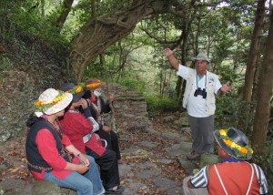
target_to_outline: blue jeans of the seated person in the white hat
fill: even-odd
[[[76,190],[77,195],[100,195],[104,194],[105,189],[99,177],[96,162],[93,157],[87,156],[89,159],[89,169],[85,174],[73,171],[66,176],[65,180],[60,180],[50,172],[45,172],[44,179],[56,183],[60,187]]]

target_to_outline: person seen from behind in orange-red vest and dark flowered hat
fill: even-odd
[[[185,178],[183,194],[268,194],[263,170],[246,161],[253,153],[246,135],[237,128],[215,130],[213,134],[221,161]]]

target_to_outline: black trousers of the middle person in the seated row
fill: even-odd
[[[113,188],[120,184],[116,152],[110,149],[99,156],[91,149],[86,148],[86,154],[92,156],[100,167],[100,177],[105,189]]]

